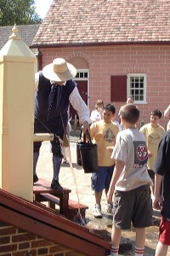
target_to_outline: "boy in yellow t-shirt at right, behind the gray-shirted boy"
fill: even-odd
[[[148,172],[150,174],[150,177],[153,183],[155,180],[155,173],[153,172],[153,167],[156,162],[157,149],[161,141],[161,137],[165,132],[165,129],[161,125],[159,125],[160,119],[161,119],[161,112],[157,109],[152,111],[150,113],[150,123],[142,126],[139,130],[144,134],[144,137],[146,140],[146,145],[148,148],[147,166],[148,166]],[[152,187],[152,193],[154,194],[154,186]]]

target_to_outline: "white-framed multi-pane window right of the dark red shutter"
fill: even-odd
[[[133,96],[134,102],[146,102],[146,75],[143,73],[127,74],[127,96]]]

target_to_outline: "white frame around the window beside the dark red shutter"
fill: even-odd
[[[135,99],[135,95],[131,93],[131,87],[130,87],[130,79],[132,77],[143,77],[144,78],[144,100],[143,101],[138,101]],[[128,96],[133,96],[134,97],[134,103],[138,104],[145,104],[146,102],[146,74],[145,73],[128,73],[127,74],[127,97]],[[139,88],[138,88],[139,89]]]

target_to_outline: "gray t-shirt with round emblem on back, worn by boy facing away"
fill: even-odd
[[[137,128],[118,132],[111,158],[125,163],[116,190],[128,191],[145,184],[153,185],[147,170],[148,151],[144,135]]]

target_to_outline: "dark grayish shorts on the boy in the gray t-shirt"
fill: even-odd
[[[113,224],[118,229],[129,230],[152,225],[150,186],[144,185],[130,191],[116,191],[113,201]]]

